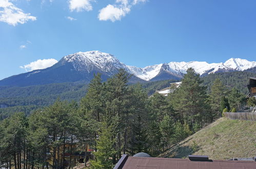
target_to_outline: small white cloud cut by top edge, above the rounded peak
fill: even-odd
[[[76,12],[81,12],[81,11],[91,11],[92,10],[92,5],[91,1],[93,0],[69,0],[69,9],[70,11],[76,11]]]

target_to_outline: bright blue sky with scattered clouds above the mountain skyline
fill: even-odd
[[[91,50],[137,67],[255,61],[255,18],[255,0],[0,0],[0,79]]]

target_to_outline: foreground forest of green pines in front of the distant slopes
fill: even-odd
[[[87,146],[93,150],[90,168],[112,168],[123,154],[155,157],[221,117],[224,96],[229,109],[244,102],[235,88],[225,94],[220,79],[208,95],[192,68],[167,97],[149,97],[141,84],[128,85],[129,78],[123,69],[105,82],[96,74],[79,102],[56,99],[28,116],[0,121],[0,168],[71,168],[76,164],[65,155],[84,153],[86,162]]]

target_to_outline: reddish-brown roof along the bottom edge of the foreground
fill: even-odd
[[[128,157],[123,155],[120,161],[115,165],[115,169],[255,169],[255,161],[231,161],[231,160],[208,160],[193,161],[189,159],[177,158],[154,158],[154,157]]]

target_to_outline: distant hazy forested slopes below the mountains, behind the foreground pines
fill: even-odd
[[[201,78],[204,80],[203,85],[207,86],[208,94],[213,81],[217,78],[221,79],[228,90],[231,91],[235,87],[239,92],[248,94],[246,87],[248,78],[253,76],[256,74],[243,71],[209,74]],[[171,82],[175,82],[175,80],[142,82],[142,87],[145,88],[148,95],[152,95],[156,90],[168,87]],[[128,85],[133,85],[133,83],[129,81]],[[11,112],[28,114],[37,108],[53,104],[57,98],[78,102],[86,94],[87,88],[88,84],[82,81],[28,87],[0,87],[0,114],[4,118],[13,114]]]

